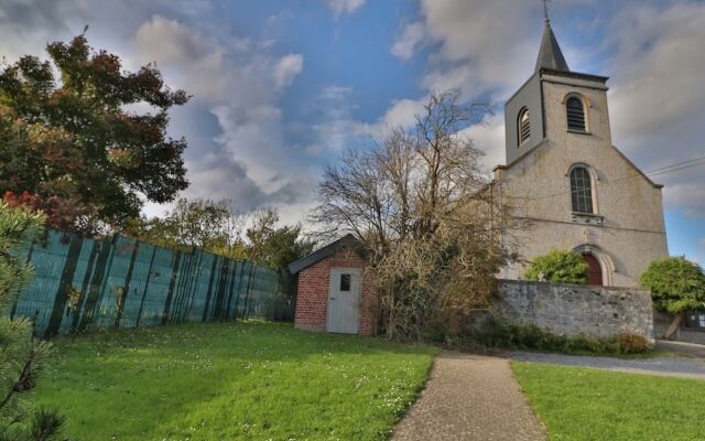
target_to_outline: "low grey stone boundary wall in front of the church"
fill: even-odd
[[[651,293],[634,288],[501,280],[492,314],[565,335],[637,334],[654,342]]]

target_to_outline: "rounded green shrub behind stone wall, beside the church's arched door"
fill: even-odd
[[[562,283],[587,283],[587,263],[568,250],[552,249],[536,257],[524,272],[527,280]]]

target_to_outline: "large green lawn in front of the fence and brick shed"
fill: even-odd
[[[55,341],[35,401],[79,440],[379,440],[437,349],[235,322]]]

